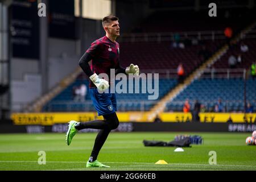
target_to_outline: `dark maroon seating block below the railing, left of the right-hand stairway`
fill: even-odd
[[[212,53],[217,51],[222,43],[221,40],[205,40],[199,45],[191,45],[184,49],[172,48],[171,42],[122,43],[121,64],[129,65],[133,61],[142,69],[176,69],[179,63],[183,63],[185,75],[189,75],[204,61],[199,56],[203,46]]]

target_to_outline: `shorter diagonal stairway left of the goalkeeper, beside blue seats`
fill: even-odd
[[[24,111],[25,112],[40,112],[43,109],[43,106],[47,104],[47,102],[51,101],[52,98],[57,96],[57,94],[61,93],[68,85],[74,82],[82,73],[82,69],[77,67],[75,72],[71,73],[67,77],[63,78],[54,88],[52,88],[48,93],[44,94],[42,97],[36,99],[32,104],[28,105]]]

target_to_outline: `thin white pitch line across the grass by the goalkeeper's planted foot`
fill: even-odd
[[[38,161],[32,160],[1,160],[0,163],[38,163]],[[46,163],[86,163],[86,162],[75,162],[75,161],[46,161]],[[154,164],[154,163],[136,163],[136,162],[102,162],[102,163],[116,163],[116,164]],[[229,164],[187,164],[187,163],[169,163],[168,165],[191,165],[191,166],[226,166],[226,167],[256,167],[246,165],[229,165]]]

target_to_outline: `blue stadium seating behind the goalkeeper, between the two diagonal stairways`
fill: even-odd
[[[77,78],[75,82],[69,85],[63,92],[58,94],[53,100],[48,102],[44,107],[44,111],[95,111],[92,102],[90,101],[89,92],[86,94],[85,102],[73,101],[72,88],[85,84],[88,88],[89,81],[81,78]],[[174,88],[177,84],[176,79],[159,79],[159,99],[164,96],[170,89]],[[135,85],[135,83],[133,83]],[[154,85],[154,84],[153,84]],[[134,87],[133,87],[134,88]],[[141,91],[141,84],[140,84]],[[128,90],[127,90],[128,92]],[[134,110],[149,110],[156,101],[147,101],[147,97],[151,95],[145,94],[128,94],[121,93],[117,96],[117,107],[119,111],[134,111]]]

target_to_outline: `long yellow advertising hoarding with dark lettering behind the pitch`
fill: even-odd
[[[147,112],[120,112],[117,113],[119,122],[148,122]],[[200,113],[200,122],[227,122],[229,117],[234,123],[256,123],[256,113]],[[191,113],[161,113],[160,119],[163,122],[191,122]],[[75,121],[91,121],[103,119],[97,113],[13,113],[11,118],[15,125],[53,125],[55,123],[67,123]],[[141,119],[137,119],[141,118]]]

